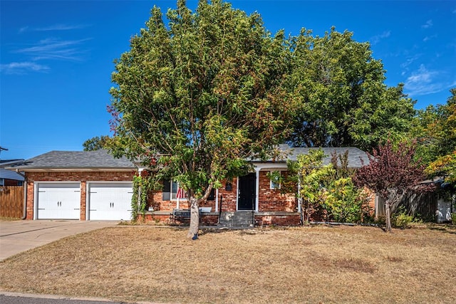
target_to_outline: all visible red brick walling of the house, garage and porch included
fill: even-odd
[[[87,182],[131,182],[135,172],[27,172],[27,217],[33,219],[33,204],[35,199],[35,182],[80,182],[81,184],[81,213],[80,219],[86,220],[86,189]],[[233,179],[232,189],[225,189],[226,182],[219,189],[218,198],[222,198],[222,211],[236,211],[237,209],[237,179]],[[177,201],[163,201],[162,192],[153,192],[149,196],[150,206],[155,210],[171,211],[176,208]],[[220,203],[220,202],[219,202]],[[215,201],[206,201],[201,206],[212,207],[215,211]],[[189,208],[187,200],[180,200],[180,208]],[[280,190],[270,189],[269,178],[266,172],[260,172],[259,180],[259,211],[296,211],[296,199],[293,194],[281,194]],[[274,213],[274,212],[272,212]],[[294,214],[257,215],[257,225],[295,226],[299,224],[299,216]],[[145,221],[160,221],[169,223],[170,215],[146,214]],[[202,214],[202,225],[217,224],[218,214]]]

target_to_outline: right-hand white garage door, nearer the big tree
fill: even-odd
[[[133,185],[126,183],[90,183],[89,216],[91,220],[131,219]]]

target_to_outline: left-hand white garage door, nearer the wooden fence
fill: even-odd
[[[79,219],[79,183],[38,183],[36,219]]]

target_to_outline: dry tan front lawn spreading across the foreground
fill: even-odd
[[[118,226],[0,263],[0,289],[172,303],[456,303],[456,234]]]

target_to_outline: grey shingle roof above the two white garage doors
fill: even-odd
[[[51,151],[8,169],[135,169],[135,165],[125,157],[113,157],[106,150]]]

